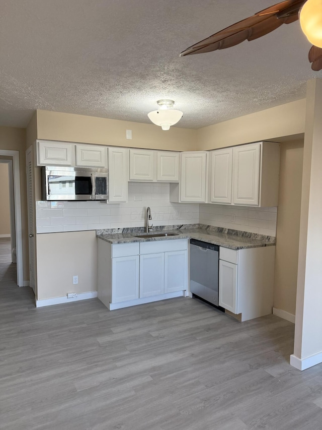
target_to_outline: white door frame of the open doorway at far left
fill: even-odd
[[[21,222],[21,193],[20,193],[20,168],[19,151],[0,149],[0,156],[13,157],[14,176],[14,201],[15,201],[15,224],[16,224],[16,249],[17,249],[17,284],[19,287],[28,286],[29,281],[24,282],[24,265],[22,252],[22,222]]]

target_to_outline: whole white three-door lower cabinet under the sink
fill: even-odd
[[[186,295],[188,239],[98,239],[98,298],[110,309]]]

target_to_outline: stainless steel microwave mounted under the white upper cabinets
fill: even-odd
[[[41,168],[42,200],[108,200],[108,170],[93,167]]]

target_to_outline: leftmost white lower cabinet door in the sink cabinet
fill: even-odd
[[[139,256],[112,258],[112,303],[139,298]]]

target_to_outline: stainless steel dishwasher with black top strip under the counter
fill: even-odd
[[[201,240],[190,239],[190,291],[218,306],[219,247]]]

